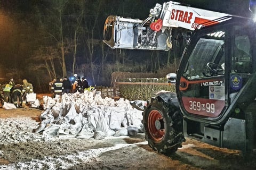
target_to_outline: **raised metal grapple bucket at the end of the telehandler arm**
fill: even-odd
[[[171,28],[155,31],[150,23],[154,22],[110,15],[104,25],[103,42],[111,48],[170,50]]]

